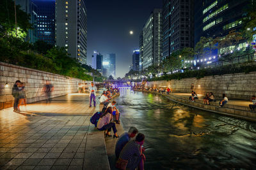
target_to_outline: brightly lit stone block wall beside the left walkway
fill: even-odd
[[[13,106],[12,87],[16,80],[25,83],[27,103],[45,99],[43,88],[46,80],[49,80],[54,86],[52,97],[77,92],[78,83],[90,83],[77,78],[0,62],[0,109]]]

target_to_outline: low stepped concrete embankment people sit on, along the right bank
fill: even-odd
[[[142,90],[138,90],[138,91],[142,91]],[[229,117],[241,118],[244,120],[256,122],[256,113],[250,112],[249,111],[250,109],[248,106],[225,104],[225,106],[223,108],[219,108],[218,101],[211,102],[211,105],[205,105],[202,97],[200,99],[196,100],[195,102],[190,102],[188,100],[188,97],[180,96],[180,95],[176,95],[176,94],[172,94],[172,93],[171,94],[162,94],[159,92],[152,92],[150,90],[143,90],[142,92],[159,94],[164,97],[167,97],[168,99],[170,99],[176,103],[184,104],[186,106],[190,106],[190,107],[197,108],[200,110],[211,111],[211,112],[218,113],[221,115],[226,115]]]

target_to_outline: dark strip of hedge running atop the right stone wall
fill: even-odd
[[[229,66],[219,66],[212,68],[205,68],[199,70],[188,70],[184,73],[173,73],[164,74],[161,77],[148,78],[147,81],[161,81],[161,80],[181,80],[182,78],[204,78],[204,76],[215,76],[223,74],[234,74],[234,73],[250,73],[256,71],[256,62],[247,62],[243,64],[229,65]],[[141,80],[134,80],[141,81]]]

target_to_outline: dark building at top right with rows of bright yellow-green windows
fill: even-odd
[[[200,37],[222,37],[241,29],[246,15],[244,8],[255,0],[198,0],[195,1],[195,44]]]

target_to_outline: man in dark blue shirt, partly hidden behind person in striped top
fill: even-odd
[[[120,138],[116,142],[116,147],[115,147],[115,154],[117,159],[119,158],[120,152],[122,151],[124,146],[131,140],[131,138],[136,136],[137,133],[138,133],[138,129],[136,129],[136,127],[130,127],[128,132],[125,132],[120,136]]]

